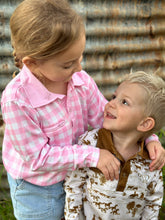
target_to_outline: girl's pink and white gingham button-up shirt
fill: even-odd
[[[84,71],[72,76],[65,96],[49,92],[24,66],[1,99],[7,172],[45,186],[64,180],[67,171],[96,167],[99,149],[76,143],[88,125],[102,126],[106,103]]]

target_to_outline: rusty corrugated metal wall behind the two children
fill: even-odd
[[[0,0],[0,95],[16,70],[11,55],[9,18],[19,2]],[[165,79],[164,0],[70,0],[70,3],[81,13],[86,25],[83,68],[107,98],[131,69],[158,71]]]

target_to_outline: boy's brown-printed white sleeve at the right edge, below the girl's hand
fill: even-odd
[[[162,171],[155,171],[152,181],[147,186],[148,194],[145,198],[146,206],[142,214],[142,220],[157,220],[163,200]]]

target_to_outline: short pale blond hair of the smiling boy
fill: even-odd
[[[136,83],[145,90],[145,114],[155,120],[154,128],[145,137],[158,132],[165,126],[165,81],[155,74],[138,71],[127,75],[124,82]]]

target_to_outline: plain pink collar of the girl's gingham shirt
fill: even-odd
[[[55,99],[63,99],[65,97],[65,95],[49,92],[47,88],[30,72],[26,65],[23,66],[20,72],[20,80],[27,97],[34,108],[46,105]],[[80,86],[82,84],[83,81],[81,78],[74,74],[68,86]]]

